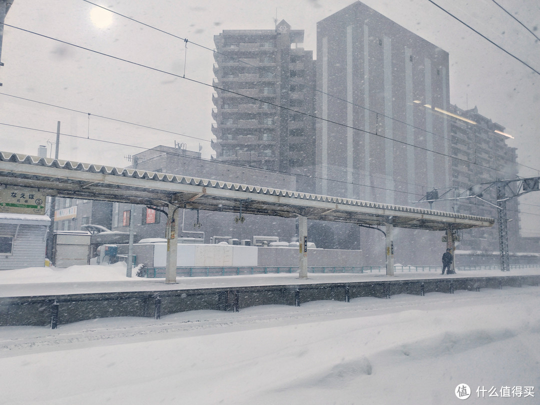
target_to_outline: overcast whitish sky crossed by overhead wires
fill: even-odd
[[[35,33],[5,27],[0,69],[0,150],[36,154],[55,141],[62,122],[59,157],[115,166],[125,156],[159,144],[186,143],[210,157],[213,36],[224,29],[272,29],[274,18],[305,30],[305,48],[316,49],[316,23],[351,0],[95,0],[124,14],[187,38],[166,35],[120,16],[100,28],[83,0],[15,0],[6,24],[107,55],[151,66],[158,72]],[[436,0],[516,57],[540,71],[540,43],[492,0]],[[450,54],[450,100],[478,111],[515,136],[522,176],[538,176],[540,75],[497,49],[428,0],[366,0],[365,3]],[[537,0],[497,0],[540,36]],[[185,73],[185,77],[183,78]],[[189,79],[203,82],[199,84]],[[8,96],[9,95],[9,96]],[[37,104],[15,97],[65,107]],[[88,116],[90,113],[90,117]],[[101,118],[113,118],[105,119]],[[146,127],[125,124],[136,123]],[[21,128],[24,127],[24,128]],[[147,127],[165,130],[151,130]],[[50,131],[50,132],[43,132]],[[185,135],[185,136],[182,136]],[[80,139],[83,138],[83,139]],[[98,141],[100,140],[100,141]],[[107,144],[113,141],[123,145]],[[137,147],[127,146],[134,145]],[[49,143],[51,148],[51,144]],[[520,199],[538,214],[538,197]],[[495,215],[495,214],[494,214]],[[538,215],[522,217],[524,235],[540,235]]]

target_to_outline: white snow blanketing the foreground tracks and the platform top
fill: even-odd
[[[164,286],[126,279],[121,266],[80,267],[0,272],[0,289]],[[301,282],[294,277],[177,286]],[[451,404],[463,384],[469,403],[540,403],[539,306],[540,287],[523,286],[0,327],[0,403]]]

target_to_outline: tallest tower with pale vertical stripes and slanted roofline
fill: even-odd
[[[449,185],[448,53],[356,2],[317,24],[321,194],[410,205]]]

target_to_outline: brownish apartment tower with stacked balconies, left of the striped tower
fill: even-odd
[[[217,160],[287,173],[315,161],[315,63],[303,30],[224,30],[214,36],[212,143]]]

